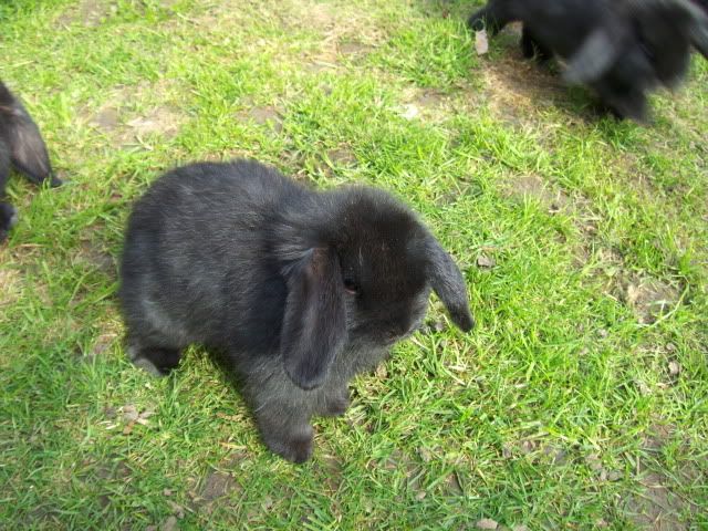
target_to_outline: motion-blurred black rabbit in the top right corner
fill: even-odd
[[[527,58],[558,54],[617,115],[646,117],[647,91],[674,86],[694,45],[708,56],[708,17],[688,0],[491,0],[468,23],[491,34],[523,23]]]

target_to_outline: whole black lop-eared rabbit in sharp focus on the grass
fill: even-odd
[[[296,462],[311,417],[344,413],[348,381],[419,326],[430,289],[473,324],[452,259],[392,196],[311,191],[249,160],[159,178],[131,215],[121,280],[133,362],[165,374],[190,343],[225,352],[263,441]]]

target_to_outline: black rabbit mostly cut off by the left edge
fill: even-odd
[[[52,174],[40,129],[20,101],[0,81],[0,242],[17,221],[14,207],[3,201],[11,167],[37,184],[45,179],[51,179],[52,186],[62,184]]]

